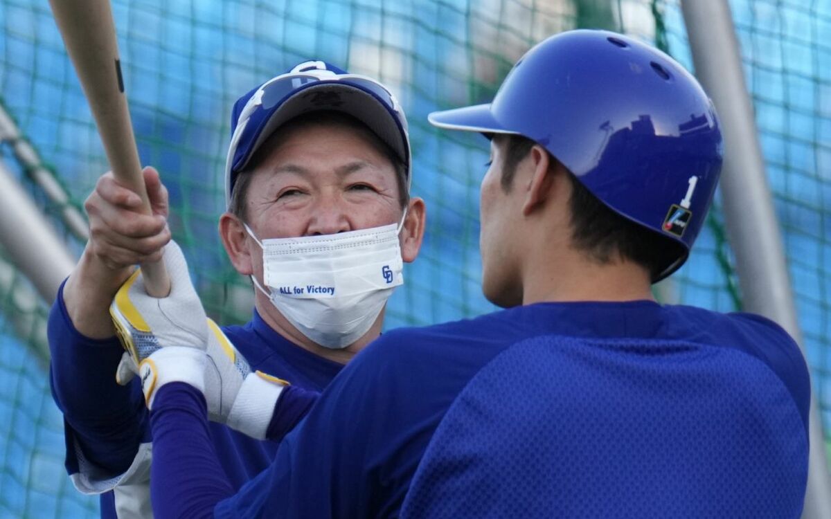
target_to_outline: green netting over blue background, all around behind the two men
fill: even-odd
[[[808,348],[831,431],[831,2],[731,2],[755,102],[777,214]],[[144,164],[170,190],[170,227],[209,314],[246,321],[253,291],[219,243],[222,170],[234,100],[310,58],[375,76],[411,125],[414,194],[428,228],[418,260],[387,312],[388,327],[426,325],[492,309],[479,290],[476,135],[440,132],[432,110],[487,102],[534,42],[574,27],[628,32],[691,68],[677,2],[650,0],[190,0],[113,5],[125,86]],[[0,102],[54,172],[69,200],[48,195],[12,143],[0,146],[76,254],[66,224],[106,171],[95,126],[47,2],[0,0]],[[41,172],[40,174],[44,174]],[[764,232],[760,229],[759,232]],[[691,260],[656,287],[663,301],[740,308],[721,213],[711,212]],[[97,503],[62,468],[61,417],[43,352],[47,304],[0,257],[0,517],[92,517]]]

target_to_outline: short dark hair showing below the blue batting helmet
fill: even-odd
[[[508,192],[514,182],[517,165],[536,143],[522,135],[508,135],[505,142],[501,184]],[[548,156],[554,166],[562,165],[553,155]],[[594,196],[571,171],[564,166],[563,170],[572,185],[568,200],[571,239],[593,260],[606,264],[620,257],[636,262],[647,268],[654,280],[672,263],[686,257],[686,249],[680,243],[616,213]]]

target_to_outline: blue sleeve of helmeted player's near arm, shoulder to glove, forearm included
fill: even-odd
[[[211,510],[228,518],[396,517],[446,409],[494,350],[442,354],[445,343],[445,336],[385,333],[332,380],[271,465],[234,495],[225,495],[227,477],[203,431],[204,401],[194,405],[198,391],[167,384],[152,413],[156,514],[182,512],[179,496],[193,505],[188,517]]]

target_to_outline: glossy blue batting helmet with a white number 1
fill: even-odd
[[[711,100],[670,56],[615,32],[563,32],[520,59],[492,103],[430,114],[450,130],[534,140],[616,213],[680,243],[686,261],[718,182]]]

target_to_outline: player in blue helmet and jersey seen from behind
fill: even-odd
[[[381,336],[236,495],[199,447],[202,382],[163,386],[155,507],[799,517],[810,388],[794,341],[760,316],[652,297],[686,260],[720,174],[718,120],[695,79],[631,38],[566,32],[530,50],[493,103],[430,121],[491,139],[483,289],[506,310]]]

